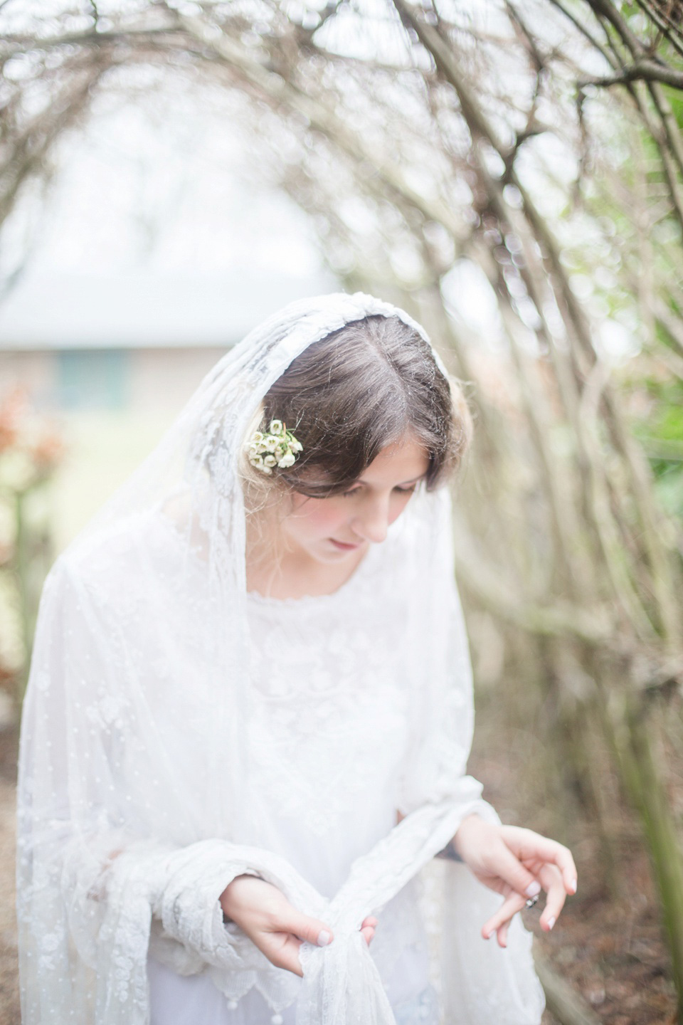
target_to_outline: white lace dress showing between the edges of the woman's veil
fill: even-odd
[[[408,680],[397,658],[404,596],[371,548],[334,594],[250,593],[253,657],[252,799],[267,807],[256,837],[332,898],[352,862],[396,822],[410,739]],[[395,592],[394,592],[395,594]],[[436,1025],[417,883],[382,911],[371,951],[397,1022]],[[400,951],[396,956],[396,952]],[[152,1025],[260,1025],[271,1020],[252,991],[228,1000],[206,975],[181,977],[151,956]],[[236,1007],[237,1003],[237,1007]],[[295,1007],[276,1021],[294,1022]]]

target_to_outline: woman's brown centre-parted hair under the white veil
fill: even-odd
[[[257,469],[247,477],[315,498],[344,491],[407,433],[424,445],[432,490],[460,464],[471,433],[457,382],[398,317],[366,317],[309,345],[267,392],[251,429],[267,430],[271,419],[284,421],[303,452],[272,477]]]

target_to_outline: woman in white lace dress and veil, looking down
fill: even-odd
[[[577,873],[465,775],[468,437],[407,314],[298,301],[57,559],[22,725],[24,1025],[538,1025],[517,912],[543,890],[552,929]]]

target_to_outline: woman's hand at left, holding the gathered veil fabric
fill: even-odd
[[[254,875],[232,879],[220,895],[220,906],[272,965],[295,975],[303,975],[299,947],[304,940],[325,947],[334,939],[324,921],[297,911],[278,887]],[[360,932],[367,943],[376,925],[377,918],[372,917],[362,922]]]

